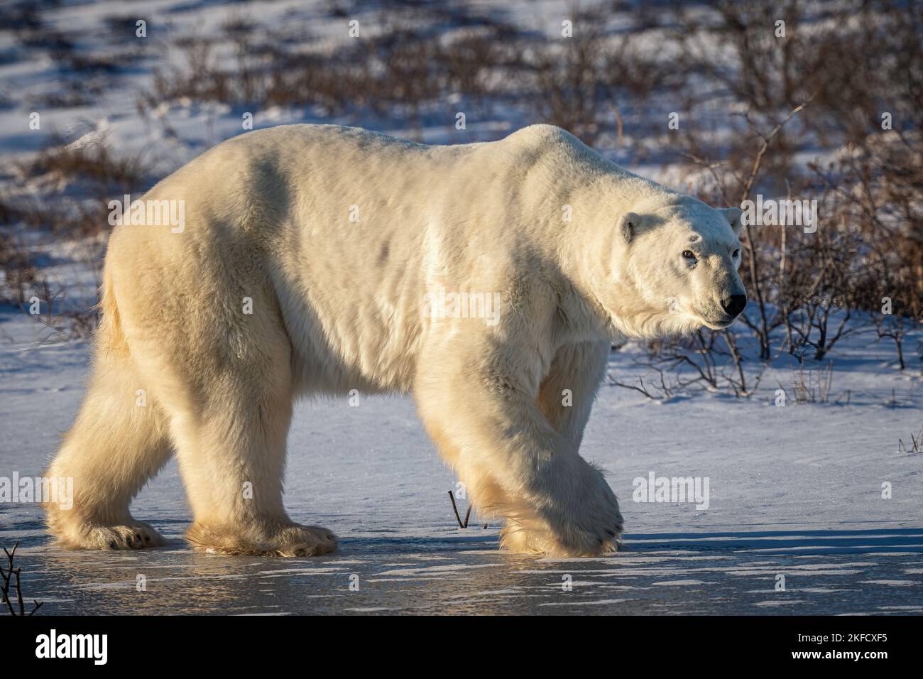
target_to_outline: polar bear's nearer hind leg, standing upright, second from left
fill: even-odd
[[[295,524],[282,504],[293,407],[288,338],[278,323],[256,318],[239,342],[240,356],[230,360],[200,349],[178,374],[210,380],[182,380],[171,390],[172,434],[194,516],[186,539],[221,554],[333,552],[330,530]]]

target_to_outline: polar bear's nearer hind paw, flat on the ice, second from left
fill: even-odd
[[[336,552],[337,537],[327,528],[288,524],[280,527],[228,527],[193,524],[186,540],[204,552],[249,556],[320,556]]]

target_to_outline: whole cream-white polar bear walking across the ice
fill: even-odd
[[[126,212],[110,237],[89,391],[47,471],[74,479],[73,508],[47,507],[67,548],[162,544],[129,503],[175,452],[195,547],[334,551],[285,513],[286,435],[294,399],[356,390],[413,394],[503,547],[613,552],[616,495],[578,454],[611,342],[746,304],[738,209],[552,126],[457,146],[273,127],[145,202],[185,223]]]

